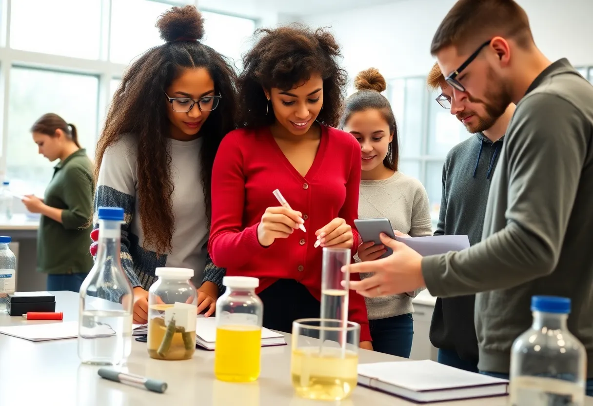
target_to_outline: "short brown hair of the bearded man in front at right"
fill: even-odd
[[[431,54],[448,46],[473,52],[495,36],[512,37],[518,46],[530,47],[533,36],[525,10],[513,0],[459,0],[436,29]]]

